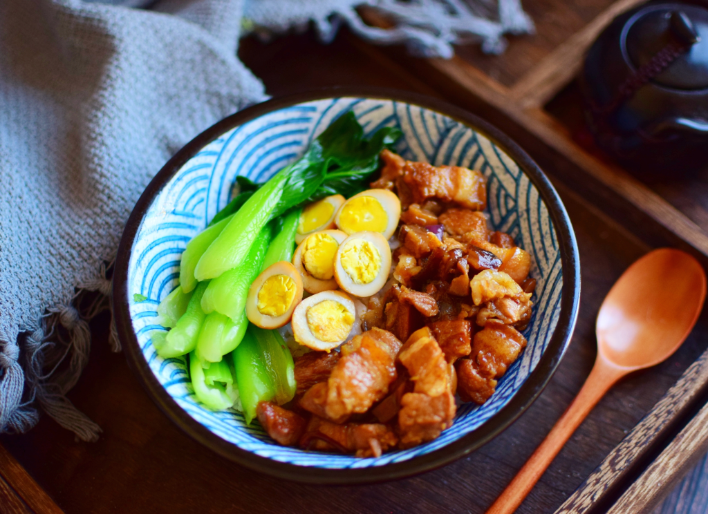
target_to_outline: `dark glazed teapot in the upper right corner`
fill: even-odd
[[[637,170],[708,165],[708,0],[651,1],[605,28],[580,77],[607,153]]]

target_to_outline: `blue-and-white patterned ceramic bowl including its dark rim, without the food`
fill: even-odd
[[[257,421],[213,412],[197,401],[184,358],[163,359],[150,334],[156,306],[177,284],[185,244],[232,197],[236,175],[263,182],[295,160],[314,137],[352,110],[370,133],[399,127],[395,149],[409,160],[481,170],[488,180],[491,226],[532,257],[537,280],[528,346],[481,407],[462,404],[455,423],[430,443],[359,459],[284,448]],[[579,264],[561,200],[538,166],[488,123],[430,98],[407,93],[329,90],[270,100],[215,124],[154,177],[127,222],[113,279],[118,334],[132,370],[161,409],[215,452],[277,477],[361,483],[439,467],[479,448],[516,419],[551,378],[578,311]],[[136,301],[135,294],[147,297]]]

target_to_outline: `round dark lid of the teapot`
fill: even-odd
[[[622,53],[635,69],[648,65],[668,45],[683,53],[654,76],[653,83],[682,90],[708,88],[708,9],[650,4],[622,30]]]

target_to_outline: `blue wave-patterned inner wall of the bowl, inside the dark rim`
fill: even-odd
[[[185,359],[161,358],[150,341],[151,332],[164,330],[156,324],[156,305],[178,285],[181,252],[188,240],[205,228],[232,198],[235,177],[244,175],[256,182],[268,180],[301,155],[334,119],[350,110],[367,134],[384,126],[399,127],[404,137],[396,143],[395,150],[408,160],[481,170],[488,180],[487,212],[491,215],[491,226],[512,235],[530,253],[530,276],[537,280],[533,317],[524,332],[528,346],[500,380],[491,399],[481,407],[460,405],[455,424],[430,443],[366,459],[284,448],[273,443],[256,422],[247,426],[240,413],[213,412],[202,407],[190,385]],[[572,238],[572,230],[570,233]],[[574,247],[574,240],[572,243]],[[486,135],[438,110],[405,101],[326,98],[265,112],[218,134],[189,156],[154,194],[135,230],[125,292],[139,354],[169,397],[198,424],[240,450],[286,466],[319,468],[321,472],[371,469],[393,463],[404,465],[418,457],[435,455],[436,451],[476,431],[510,402],[542,360],[559,323],[561,298],[568,287],[561,253],[559,235],[539,190],[518,163]],[[570,273],[574,289],[577,277],[573,274],[577,271],[571,269]],[[147,300],[135,301],[135,293],[146,296]],[[572,330],[577,310],[576,295],[571,297],[575,298],[575,304],[566,332]],[[561,344],[560,354],[567,339],[569,334]],[[236,460],[243,461],[238,457]],[[428,462],[433,461],[428,459]]]

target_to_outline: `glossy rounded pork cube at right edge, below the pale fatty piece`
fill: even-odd
[[[481,375],[501,378],[526,347],[526,338],[514,327],[489,320],[484,329],[474,334],[470,357],[476,361]]]

